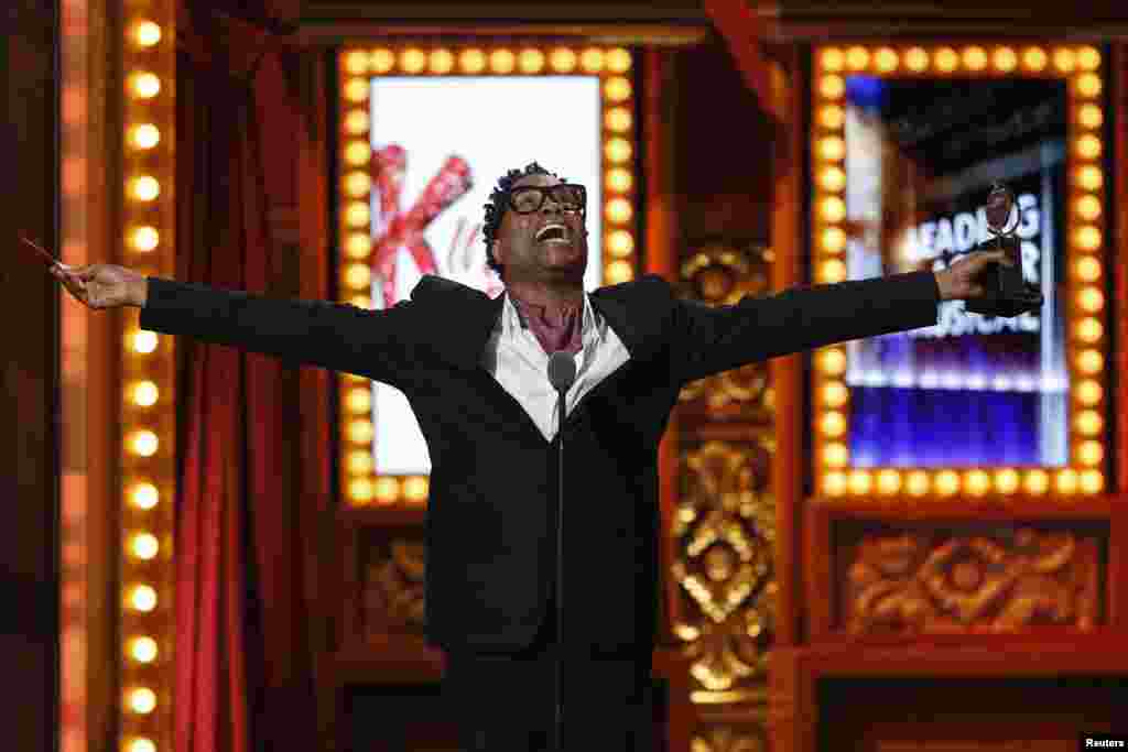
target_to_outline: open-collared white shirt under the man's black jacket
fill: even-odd
[[[575,359],[575,381],[565,395],[567,415],[580,399],[629,360],[626,345],[583,294],[583,347]],[[556,390],[548,382],[548,355],[532,329],[526,328],[512,299],[505,302],[486,343],[483,365],[513,396],[547,441],[559,426]]]

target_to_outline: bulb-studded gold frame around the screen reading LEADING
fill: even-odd
[[[978,496],[1042,496],[1092,495],[1102,493],[1107,479],[1103,469],[1083,465],[1078,454],[1103,455],[1102,431],[1083,433],[1082,427],[1095,422],[1078,416],[1085,410],[1100,410],[1107,402],[1108,386],[1102,368],[1093,369],[1099,357],[1109,363],[1104,312],[1110,306],[1103,300],[1105,257],[1100,245],[1109,237],[1105,225],[1104,191],[1112,182],[1105,174],[1102,153],[1101,118],[1086,115],[1086,107],[1101,106],[1105,61],[1103,54],[1087,44],[1030,44],[967,42],[961,44],[895,45],[888,42],[873,44],[821,45],[812,52],[813,85],[811,117],[811,186],[812,216],[810,221],[811,268],[816,282],[838,282],[843,278],[846,248],[844,221],[838,207],[844,197],[844,185],[837,171],[844,169],[844,118],[840,116],[844,77],[853,73],[909,79],[1007,78],[1013,76],[1065,80],[1068,97],[1068,194],[1066,236],[1068,313],[1073,334],[1067,340],[1069,363],[1069,443],[1074,448],[1073,465],[1063,468],[866,468],[849,466],[848,436],[827,432],[849,415],[849,389],[843,380],[840,368],[845,347],[825,347],[814,353],[812,379],[812,425],[814,435],[816,485],[828,497],[880,497],[881,489],[896,485],[898,495],[908,497],[978,497]],[[834,112],[829,112],[832,109]],[[835,175],[829,175],[835,172]],[[1078,202],[1099,207],[1086,216],[1078,215]],[[1094,215],[1095,214],[1095,215]],[[1096,247],[1093,247],[1094,244]],[[1103,302],[1102,302],[1103,300]],[[1094,307],[1094,303],[1100,303]],[[1079,336],[1077,333],[1082,333]],[[1087,333],[1087,336],[1085,335]],[[1095,339],[1093,337],[1095,333]],[[1078,389],[1084,382],[1089,389]],[[1095,389],[1094,389],[1095,387]],[[846,389],[843,405],[827,405],[822,396]],[[1084,393],[1100,393],[1095,404],[1085,400]],[[1108,423],[1107,421],[1104,423]],[[1078,425],[1081,424],[1081,425]],[[843,463],[843,446],[847,446]],[[1079,453],[1079,445],[1089,448]],[[1098,451],[1096,448],[1100,448]],[[1095,475],[1094,475],[1095,474]],[[870,480],[863,478],[870,476]],[[895,477],[896,476],[896,477]],[[954,488],[954,490],[953,490]]]

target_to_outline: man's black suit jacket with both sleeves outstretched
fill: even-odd
[[[754,361],[933,325],[938,289],[918,272],[708,307],[650,275],[600,287],[591,302],[631,357],[564,425],[565,639],[645,656],[659,582],[658,445],[681,388]],[[550,617],[557,451],[481,364],[501,306],[435,276],[379,311],[152,277],[140,324],[402,390],[432,463],[428,638],[510,651]]]

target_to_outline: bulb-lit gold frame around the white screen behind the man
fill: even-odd
[[[405,62],[407,67],[405,68]],[[441,44],[435,41],[404,41],[395,44],[345,46],[337,57],[337,101],[342,179],[338,192],[337,222],[341,230],[342,264],[337,269],[341,302],[371,308],[371,276],[358,267],[371,267],[371,237],[368,218],[358,228],[360,213],[353,206],[368,207],[372,200],[372,150],[368,106],[372,78],[377,76],[596,76],[599,79],[600,165],[602,206],[589,206],[589,215],[602,218],[603,282],[615,284],[635,276],[638,268],[638,179],[635,169],[636,141],[634,54],[624,47],[582,42],[564,44],[499,44],[491,42]],[[625,179],[624,179],[625,178]],[[484,250],[483,250],[484,253]],[[420,507],[426,503],[429,478],[425,476],[381,476],[368,433],[360,423],[371,421],[370,406],[350,400],[358,387],[370,388],[367,379],[340,374],[341,421],[338,441],[342,457],[338,469],[344,503],[353,508]],[[363,408],[363,409],[361,409]],[[359,441],[359,439],[369,439]],[[358,454],[363,454],[358,459]]]

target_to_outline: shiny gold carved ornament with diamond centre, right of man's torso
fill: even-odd
[[[682,457],[675,632],[687,643],[699,701],[737,701],[741,684],[763,681],[767,669],[776,593],[769,444],[708,442]]]

